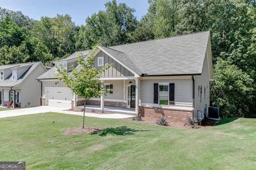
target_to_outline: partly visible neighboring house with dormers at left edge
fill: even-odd
[[[41,83],[36,78],[46,71],[41,62],[1,65],[0,105],[13,101],[13,107],[40,106]]]

